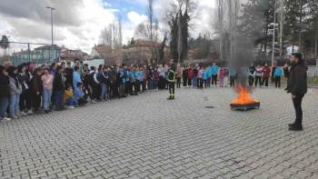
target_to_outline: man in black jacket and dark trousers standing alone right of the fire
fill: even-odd
[[[289,124],[289,130],[303,131],[302,101],[304,94],[307,93],[307,67],[300,53],[294,53],[291,56],[291,63],[292,68],[288,78],[287,93],[292,94],[296,120],[294,124]]]

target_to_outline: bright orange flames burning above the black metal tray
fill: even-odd
[[[235,90],[238,93],[237,98],[233,101],[232,104],[254,104],[258,103],[257,100],[253,99],[251,96],[250,90],[243,85],[237,85]]]

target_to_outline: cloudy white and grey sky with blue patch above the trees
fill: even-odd
[[[159,22],[171,0],[154,0]],[[216,0],[197,0],[198,13],[192,21],[191,36],[211,29]],[[134,36],[137,25],[146,20],[147,0],[0,0],[0,35],[10,41],[51,43],[51,18],[46,6],[55,7],[56,45],[91,52],[105,25],[121,16],[124,43]]]

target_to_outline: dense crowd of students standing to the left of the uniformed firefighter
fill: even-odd
[[[169,65],[0,65],[0,120],[168,89]]]

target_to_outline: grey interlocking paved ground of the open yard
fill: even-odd
[[[0,124],[0,178],[318,178],[318,90],[303,132],[283,89],[231,111],[232,89],[148,92]],[[205,108],[214,106],[214,108]]]

